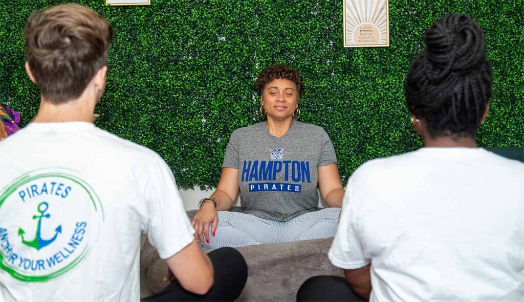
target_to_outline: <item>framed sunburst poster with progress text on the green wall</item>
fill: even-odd
[[[344,0],[344,47],[389,46],[388,0]]]

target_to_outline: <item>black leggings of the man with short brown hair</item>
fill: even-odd
[[[247,281],[247,264],[240,252],[233,248],[220,248],[208,254],[213,263],[215,282],[205,295],[185,290],[173,281],[161,293],[142,301],[234,301],[242,293]]]

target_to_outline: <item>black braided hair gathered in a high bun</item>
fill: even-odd
[[[433,23],[425,44],[408,69],[408,109],[425,119],[431,137],[475,138],[493,87],[484,32],[471,17],[449,14]]]

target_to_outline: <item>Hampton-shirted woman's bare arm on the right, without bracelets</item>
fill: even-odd
[[[322,199],[329,207],[342,207],[344,186],[340,181],[339,168],[336,163],[319,166],[319,190]]]

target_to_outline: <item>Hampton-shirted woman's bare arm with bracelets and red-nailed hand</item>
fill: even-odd
[[[204,237],[205,241],[209,243],[208,229],[210,224],[212,224],[211,234],[215,235],[216,226],[219,223],[219,216],[216,211],[231,209],[238,196],[238,189],[238,169],[223,168],[219,184],[216,186],[215,192],[211,194],[218,199],[216,209],[212,203],[206,202],[202,204],[202,207],[193,217],[193,221],[191,221],[191,225],[195,229],[195,237],[200,240],[202,245],[204,245]],[[202,233],[204,233],[203,236]]]

